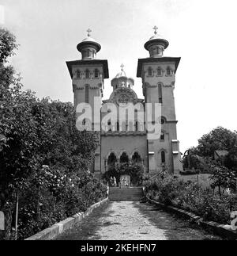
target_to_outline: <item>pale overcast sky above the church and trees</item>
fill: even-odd
[[[38,97],[73,101],[66,61],[81,59],[76,45],[88,28],[102,46],[97,59],[108,60],[104,99],[121,63],[142,97],[137,59],[149,57],[143,46],[157,25],[170,42],[164,55],[182,58],[175,83],[180,150],[196,146],[218,125],[237,129],[236,0],[0,0],[0,5],[0,23],[20,44],[11,62],[24,89]]]

